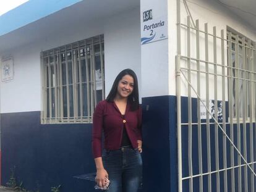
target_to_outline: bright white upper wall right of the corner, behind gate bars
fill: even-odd
[[[169,3],[169,94],[176,95],[176,78],[175,78],[175,56],[177,54],[177,43],[176,43],[176,1],[168,1]],[[217,36],[221,36],[221,30],[224,30],[224,38],[226,38],[226,29],[227,27],[231,27],[234,30],[242,33],[242,35],[247,36],[250,40],[256,41],[255,29],[253,29],[250,25],[248,25],[244,20],[239,19],[237,15],[233,14],[231,11],[223,7],[223,5],[219,4],[217,1],[210,0],[191,0],[187,1],[187,5],[192,14],[192,17],[195,20],[199,20],[199,28],[200,30],[204,30],[205,23],[208,23],[208,33],[213,34],[213,27],[216,26],[216,34]],[[181,1],[181,23],[187,24],[187,12],[184,7],[184,3]],[[191,30],[193,31],[193,30]],[[173,39],[171,39],[173,38]],[[209,36],[209,61],[213,62],[213,38]],[[225,64],[227,65],[227,51],[226,51],[226,43],[225,44]],[[181,33],[181,54],[183,56],[187,56],[187,33],[182,28]],[[196,43],[195,43],[195,33],[191,36],[191,57],[196,58]],[[221,41],[217,41],[217,63],[221,64]],[[200,59],[205,60],[205,41],[204,35],[200,35]],[[182,66],[186,66],[186,62],[183,61]],[[195,66],[195,65],[194,65]],[[200,65],[201,69],[205,69],[204,64]],[[194,67],[195,69],[195,67]],[[213,67],[210,69],[213,71]],[[221,73],[221,69],[218,69],[218,73]],[[181,75],[182,76],[182,75]],[[201,77],[201,88],[205,89],[205,80]],[[221,78],[218,79],[218,85],[221,85]],[[197,88],[196,75],[192,75],[192,85]],[[182,88],[181,95],[187,96],[187,82],[182,77]],[[226,82],[226,87],[227,82]],[[213,77],[210,80],[210,98],[213,98],[214,94],[213,89]],[[192,91],[192,96],[196,97],[194,91]],[[202,98],[205,98],[205,91],[201,93]],[[228,93],[226,93],[226,98],[228,98]],[[218,91],[218,99],[221,99],[221,91]]]

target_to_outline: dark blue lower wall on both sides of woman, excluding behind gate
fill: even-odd
[[[143,98],[143,190],[177,191],[176,97]],[[147,106],[149,106],[147,110]],[[74,179],[95,172],[92,124],[41,125],[40,112],[1,114],[2,183],[12,167],[28,190],[94,191]]]

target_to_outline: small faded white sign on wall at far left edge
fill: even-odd
[[[13,80],[14,78],[14,59],[8,57],[1,61],[1,79],[2,82]]]

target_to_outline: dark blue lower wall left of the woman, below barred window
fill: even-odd
[[[40,112],[1,114],[2,183],[15,177],[28,190],[93,191],[93,182],[77,190],[73,177],[95,172],[92,124],[41,125]]]

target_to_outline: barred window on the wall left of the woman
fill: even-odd
[[[41,123],[90,123],[105,98],[104,36],[41,52]]]

